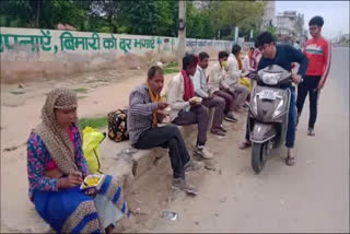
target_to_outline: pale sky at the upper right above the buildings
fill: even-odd
[[[349,1],[276,1],[276,14],[283,11],[296,11],[304,14],[304,27],[315,15],[324,17],[322,34],[329,39],[339,32],[349,34]],[[310,35],[308,35],[310,36]]]

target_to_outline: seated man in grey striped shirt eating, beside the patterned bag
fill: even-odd
[[[173,168],[173,187],[187,192],[195,188],[185,180],[185,172],[197,171],[202,163],[190,160],[183,136],[175,125],[159,127],[165,118],[167,103],[160,101],[164,85],[163,70],[153,66],[147,82],[136,87],[129,96],[128,130],[131,145],[136,149],[162,147],[168,149]]]

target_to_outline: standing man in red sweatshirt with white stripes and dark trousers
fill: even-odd
[[[320,35],[323,25],[324,20],[322,16],[314,16],[308,22],[312,38],[307,40],[304,48],[304,54],[308,59],[308,67],[305,81],[298,86],[298,118],[302,114],[307,93],[310,95],[308,136],[315,136],[314,127],[317,117],[319,91],[326,83],[330,68],[331,45]]]

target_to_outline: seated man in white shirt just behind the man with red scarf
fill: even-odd
[[[208,78],[206,75],[206,69],[209,66],[209,55],[207,52],[200,52],[198,57],[199,61],[192,79],[195,95],[202,98],[202,105],[208,108],[215,109],[210,132],[213,134],[225,136],[226,130],[222,127],[225,101],[220,96],[215,96],[209,90]]]

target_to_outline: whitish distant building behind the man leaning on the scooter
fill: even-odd
[[[299,40],[302,45],[307,39],[307,31],[304,30],[304,15],[296,11],[284,11],[277,15],[278,40],[293,44]]]

